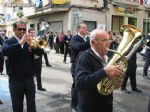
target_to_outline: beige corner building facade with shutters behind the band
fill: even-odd
[[[71,30],[76,33],[76,26],[80,22],[87,24],[89,32],[99,28],[119,33],[124,24],[138,27],[145,35],[150,32],[150,0],[17,1],[24,4],[35,3],[34,7],[30,7],[32,9],[23,7],[23,15],[28,18],[28,28],[33,27],[36,31],[40,30],[40,22],[44,20],[49,24],[48,30],[52,32],[66,33]]]

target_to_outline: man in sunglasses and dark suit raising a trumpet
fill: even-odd
[[[9,90],[13,112],[23,112],[23,100],[26,97],[27,112],[36,112],[35,83],[33,80],[34,54],[37,49],[29,46],[31,36],[26,34],[26,23],[13,24],[14,36],[3,44],[2,54],[8,58]]]

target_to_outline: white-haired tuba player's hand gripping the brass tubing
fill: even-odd
[[[109,66],[104,68],[106,74],[108,76],[120,76],[123,75],[123,69],[120,68],[119,66]]]

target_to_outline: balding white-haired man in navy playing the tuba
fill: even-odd
[[[78,94],[79,112],[112,112],[113,95],[102,95],[97,84],[109,76],[120,76],[123,70],[118,66],[105,67],[108,57],[109,35],[103,30],[90,34],[91,49],[82,52],[77,60],[75,81]]]

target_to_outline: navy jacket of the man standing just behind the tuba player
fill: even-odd
[[[80,37],[78,34],[74,35],[71,38],[71,63],[75,63],[76,57],[79,52],[89,49],[90,43],[89,41],[84,41],[82,37]]]

